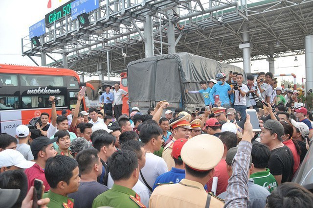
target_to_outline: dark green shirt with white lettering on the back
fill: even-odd
[[[268,189],[270,193],[274,190],[275,187],[277,187],[277,181],[269,172],[268,168],[266,168],[266,171],[251,174],[250,179],[254,180],[254,184],[261,185]]]

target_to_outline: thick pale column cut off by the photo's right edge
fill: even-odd
[[[309,92],[309,89],[313,89],[313,35],[307,35],[305,37],[305,92]]]

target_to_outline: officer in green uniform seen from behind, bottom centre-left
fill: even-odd
[[[92,208],[145,208],[140,196],[132,190],[139,178],[138,159],[133,151],[119,150],[108,160],[114,184],[111,189],[97,196]],[[121,168],[123,167],[123,168]]]

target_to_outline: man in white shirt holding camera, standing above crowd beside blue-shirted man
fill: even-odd
[[[246,119],[246,92],[248,92],[248,87],[243,84],[244,76],[241,73],[236,75],[238,86],[234,88],[235,92],[235,103],[234,109],[241,113],[242,120]]]

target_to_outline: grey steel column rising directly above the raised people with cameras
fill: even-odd
[[[251,73],[251,50],[250,50],[250,36],[249,36],[249,24],[245,23],[243,25],[243,40],[245,47],[243,48],[243,58],[244,58],[244,70],[246,73]],[[242,44],[244,45],[244,44]]]

